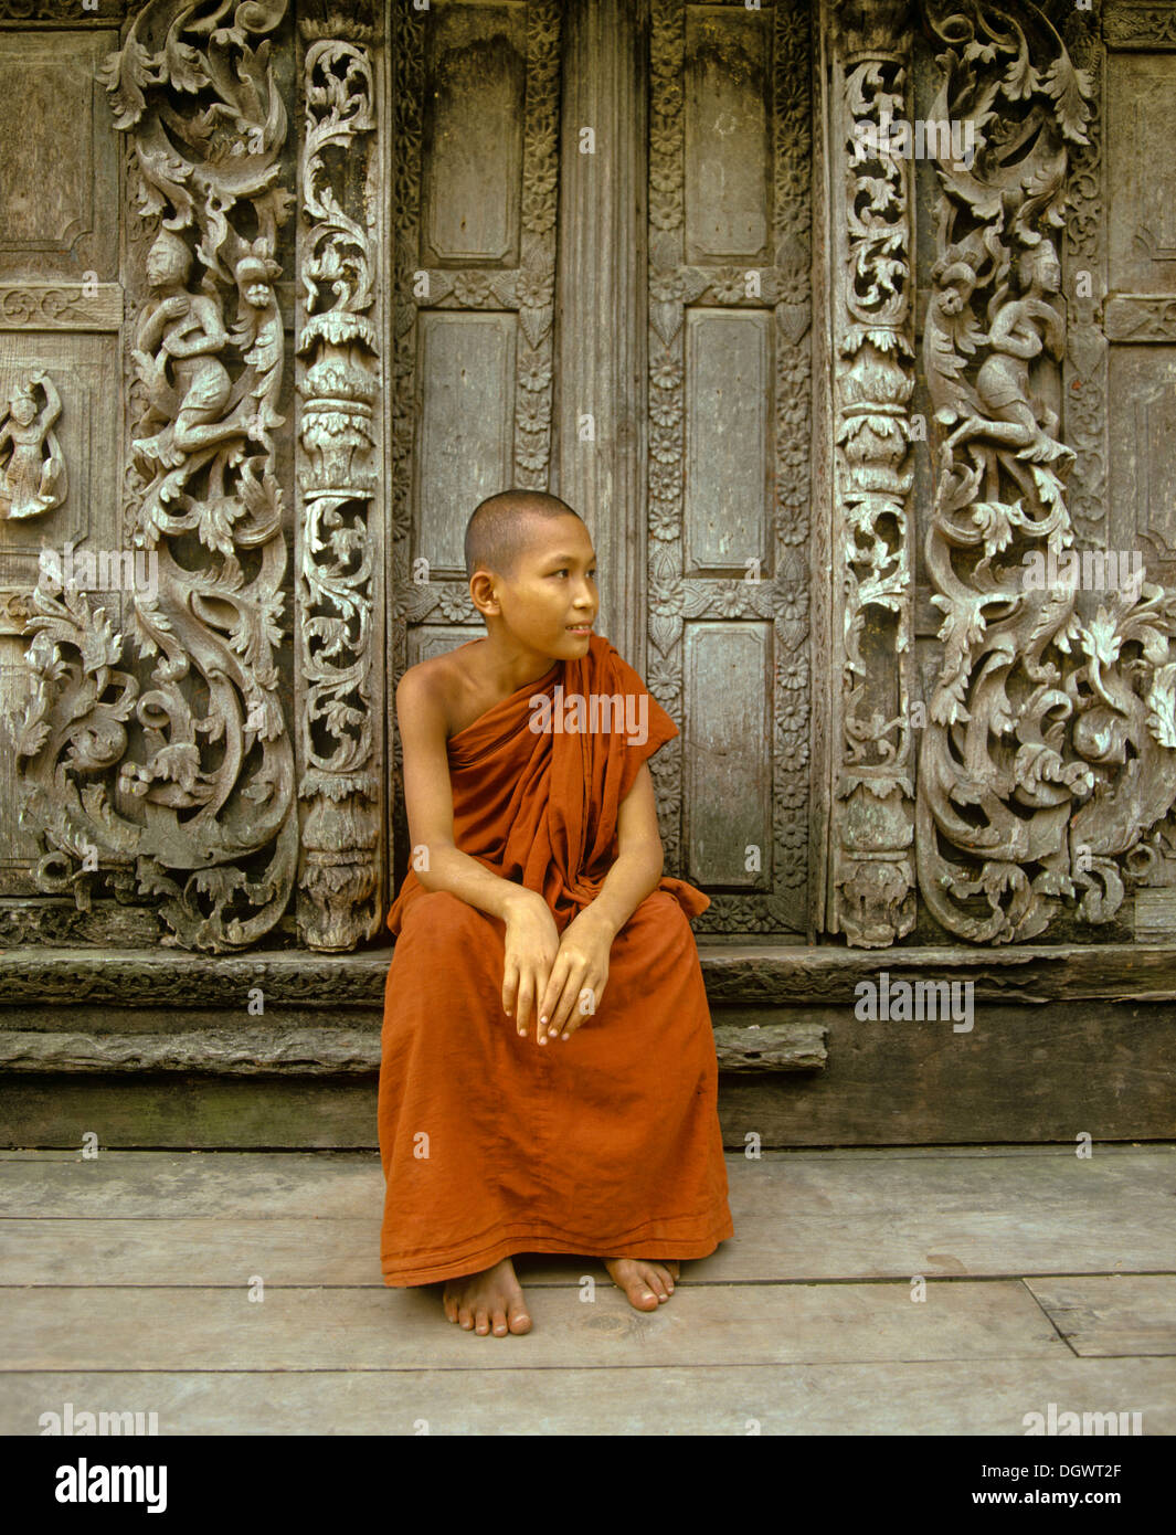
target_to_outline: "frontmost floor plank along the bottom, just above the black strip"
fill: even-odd
[[[471,1349],[488,1348],[507,1357],[514,1340],[465,1342]],[[1173,1435],[1176,1362],[1079,1360],[1065,1352],[1029,1360],[755,1369],[315,1371],[282,1374],[279,1382],[238,1371],[41,1371],[3,1377],[0,1434],[40,1434],[40,1415],[63,1414],[68,1401],[75,1412],[155,1412],[161,1435],[410,1435],[427,1426],[434,1435],[760,1432],[1021,1438],[1026,1414],[1044,1415],[1050,1401],[1058,1412],[1139,1412],[1144,1435]],[[1125,1421],[1133,1426],[1131,1418]],[[1033,1438],[1024,1441],[1026,1455],[1033,1443]],[[95,1441],[78,1443],[78,1451],[83,1444],[92,1451]]]

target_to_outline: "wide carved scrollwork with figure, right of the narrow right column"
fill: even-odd
[[[935,111],[970,118],[978,149],[970,167],[938,161],[924,328],[926,548],[944,649],[920,758],[918,875],[949,932],[1012,942],[1062,912],[1110,921],[1125,876],[1147,872],[1141,838],[1176,798],[1176,597],[1076,546],[1104,514],[1105,361],[1081,344],[1090,313],[1076,301],[1067,315],[1055,239],[1067,229],[1067,262],[1099,275],[1098,77],[1030,3],[1015,17],[924,3],[924,15],[944,48]],[[1088,35],[1072,37],[1096,64]],[[1061,436],[1067,350],[1093,385],[1088,410],[1067,407],[1079,448]]]

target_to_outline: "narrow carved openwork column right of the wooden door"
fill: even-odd
[[[831,69],[834,625],[826,923],[880,947],[915,921],[910,732],[910,163],[883,114],[909,120],[904,0],[824,9]],[[880,152],[858,152],[866,134]],[[881,130],[881,132],[877,132]]]

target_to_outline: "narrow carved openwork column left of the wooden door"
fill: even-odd
[[[304,23],[298,241],[299,932],[352,949],[381,921],[381,741],[373,709],[381,421],[379,172],[370,29]]]

